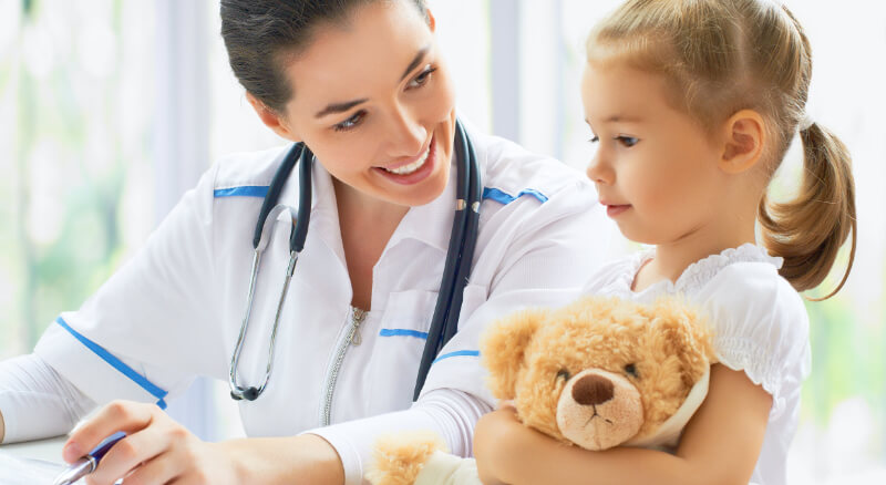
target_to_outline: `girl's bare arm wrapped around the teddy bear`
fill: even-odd
[[[763,445],[772,396],[742,371],[717,364],[708,396],[676,455],[567,446],[516,420],[514,410],[477,423],[474,454],[484,484],[746,484]]]

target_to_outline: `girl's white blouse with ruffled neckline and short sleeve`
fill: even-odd
[[[784,484],[801,384],[811,370],[811,351],[803,300],[779,275],[782,258],[746,244],[693,262],[676,282],[662,280],[632,291],[637,272],[652,257],[655,249],[606,265],[584,292],[642,303],[680,295],[707,312],[720,363],[744,371],[772,394],[766,434],[751,483]]]

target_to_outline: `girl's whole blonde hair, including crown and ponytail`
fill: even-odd
[[[804,120],[812,51],[786,7],[770,0],[629,0],[590,33],[588,62],[627,62],[664,76],[669,102],[707,130],[740,110],[766,120],[769,179]],[[797,290],[817,287],[853,233],[855,183],[846,146],[817,123],[800,127],[804,172],[797,197],[760,202],[766,248]]]

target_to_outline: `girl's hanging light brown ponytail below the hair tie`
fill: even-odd
[[[787,203],[760,202],[763,241],[774,256],[784,258],[780,271],[797,291],[824,281],[841,246],[852,231],[849,261],[843,279],[825,300],[843,288],[855,260],[857,225],[855,182],[846,145],[836,135],[813,123],[801,130],[803,182],[800,194]]]

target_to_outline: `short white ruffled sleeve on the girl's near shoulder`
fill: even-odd
[[[772,394],[770,420],[776,420],[800,399],[811,370],[802,298],[767,262],[730,265],[697,297],[711,318],[720,363]]]

